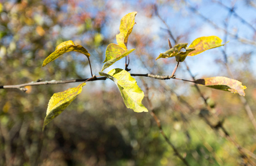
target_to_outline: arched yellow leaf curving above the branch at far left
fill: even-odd
[[[47,56],[47,58],[45,58],[42,66],[47,65],[51,61],[54,61],[55,59],[57,59],[60,55],[62,55],[64,53],[68,53],[70,51],[76,51],[78,53],[82,53],[82,54],[86,55],[88,58],[90,56],[88,51],[83,46],[75,45],[73,41],[69,40],[69,41],[60,43],[56,47],[55,51],[52,54],[50,54],[49,56]]]

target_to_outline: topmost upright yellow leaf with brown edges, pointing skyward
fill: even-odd
[[[135,24],[135,15],[137,12],[131,12],[126,14],[120,23],[120,33],[116,35],[116,42],[123,49],[127,50],[126,45],[128,42],[129,35],[132,32],[132,28],[134,28]]]

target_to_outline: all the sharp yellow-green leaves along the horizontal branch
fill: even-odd
[[[135,25],[135,15],[137,12],[131,12],[126,14],[121,19],[120,24],[120,33],[116,35],[117,44],[111,43],[106,48],[106,58],[104,60],[104,65],[101,71],[99,72],[100,76],[105,76],[106,78],[112,80],[117,85],[120,90],[121,96],[125,102],[127,108],[131,108],[135,112],[148,112],[147,108],[142,105],[141,101],[144,98],[144,92],[137,85],[136,80],[131,77],[130,73],[123,69],[112,69],[108,73],[103,71],[106,68],[109,68],[116,61],[124,58],[129,55],[135,49],[127,49],[127,42],[129,35],[132,32],[132,29]],[[222,40],[216,36],[211,37],[201,37],[194,40],[190,46],[187,47],[187,43],[180,43],[173,48],[161,53],[157,59],[160,58],[171,58],[175,56],[178,63],[184,61],[187,56],[194,56],[202,53],[208,49],[216,48],[222,46]],[[181,51],[184,48],[186,51]],[[75,45],[71,40],[63,42],[57,46],[54,53],[50,54],[43,62],[43,66],[47,65],[51,61],[57,59],[60,55],[67,53],[69,51],[76,51],[84,54],[88,60],[90,54],[88,51],[81,45]],[[90,79],[95,79],[95,76],[92,75]],[[86,81],[85,81],[86,82]],[[44,120],[43,129],[45,126],[52,121],[56,116],[63,112],[63,110],[69,106],[69,104],[80,94],[82,87],[85,84],[78,85],[77,87],[70,88],[63,92],[58,92],[54,94],[48,103],[47,116]],[[195,84],[211,87],[213,89],[219,89],[224,91],[229,91],[232,93],[238,93],[239,95],[244,96],[245,86],[242,85],[242,82],[237,80],[229,79],[227,77],[209,77],[205,79],[199,79],[193,81]]]

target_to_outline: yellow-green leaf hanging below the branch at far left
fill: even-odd
[[[46,117],[44,118],[43,130],[50,121],[60,115],[60,113],[62,113],[63,110],[69,106],[75,97],[80,94],[84,85],[86,85],[86,83],[67,89],[63,92],[53,94],[48,103]]]

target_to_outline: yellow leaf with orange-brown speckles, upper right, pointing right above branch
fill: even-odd
[[[201,37],[194,40],[188,48],[194,48],[193,52],[188,54],[188,56],[194,56],[197,54],[202,53],[203,51],[216,48],[218,46],[222,46],[225,44],[221,44],[222,40],[219,37],[216,36],[210,36],[210,37]]]

